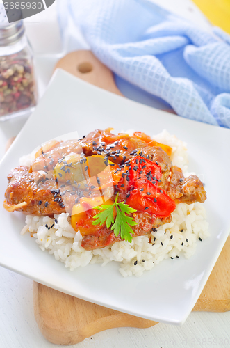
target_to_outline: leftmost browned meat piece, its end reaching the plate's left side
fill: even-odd
[[[87,196],[86,191],[65,184],[65,187],[60,187],[63,183],[59,185],[53,178],[46,179],[38,172],[29,173],[26,166],[13,169],[8,180],[4,207],[24,214],[54,216],[63,212],[71,213],[76,198]],[[98,193],[92,192],[91,197],[96,195]],[[20,206],[21,203],[24,205]]]

